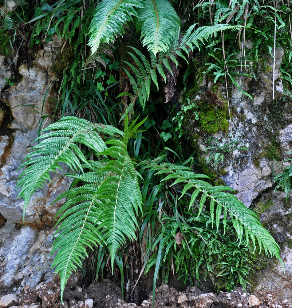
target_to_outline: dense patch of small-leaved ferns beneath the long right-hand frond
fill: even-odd
[[[247,247],[238,245],[231,221],[227,221],[226,230],[220,225],[216,231],[212,227],[210,213],[204,212],[200,217],[196,213],[186,212],[187,218],[162,217],[160,235],[164,252],[163,261],[171,268],[175,264],[176,273],[186,284],[194,280],[211,278],[217,291],[231,291],[238,285],[245,289],[248,276],[254,272],[257,262],[256,254],[251,254],[250,244]],[[146,272],[157,254],[148,262]],[[163,266],[163,265],[162,265]]]

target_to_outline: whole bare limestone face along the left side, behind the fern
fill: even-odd
[[[15,284],[20,288],[26,285],[34,288],[41,278],[46,281],[53,275],[50,269],[52,226],[62,201],[51,204],[66,190],[67,180],[53,175],[52,182],[35,193],[26,209],[26,225],[23,225],[23,201],[18,199],[16,181],[22,171],[18,168],[38,135],[41,113],[49,116],[52,110],[50,99],[54,96],[52,85],[56,78],[50,67],[60,51],[61,42],[57,38],[45,43],[43,49],[32,55],[31,63],[25,60],[15,68],[19,72],[17,80],[11,71],[16,60],[4,61],[0,55],[2,101],[10,107],[14,119],[8,128],[4,120],[6,126],[3,124],[0,129],[0,295],[12,290]],[[49,122],[47,117],[43,127]]]

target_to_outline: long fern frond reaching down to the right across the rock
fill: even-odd
[[[190,170],[186,173],[186,167],[180,168],[180,166],[175,164],[161,163],[158,165],[153,162],[144,168],[151,168],[151,170],[157,171],[156,174],[166,174],[161,181],[174,180],[172,185],[179,184],[180,186],[184,186],[181,197],[191,190],[189,208],[191,208],[194,203],[197,204],[199,207],[198,216],[202,213],[203,206],[206,205],[208,201],[211,219],[212,221],[215,219],[217,229],[222,214],[224,230],[226,227],[227,215],[230,215],[238,236],[239,245],[243,240],[243,234],[245,234],[246,245],[248,245],[249,238],[251,238],[254,249],[256,249],[256,239],[260,249],[263,246],[266,254],[277,257],[283,265],[279,255],[279,246],[274,238],[262,227],[257,215],[253,211],[247,209],[234,195],[226,192],[232,190],[230,187],[212,186],[203,180],[198,180],[197,178],[199,175]],[[198,197],[199,203],[196,201]]]

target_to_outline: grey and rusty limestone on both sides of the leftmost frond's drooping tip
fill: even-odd
[[[22,223],[22,199],[18,199],[16,180],[22,170],[18,168],[37,138],[38,130],[29,132],[16,131],[10,136],[0,136],[0,213],[6,220]],[[51,176],[52,182],[38,190],[31,198],[25,215],[25,222],[38,228],[53,225],[53,219],[62,200],[51,206],[57,195],[68,187],[67,179],[58,174]]]

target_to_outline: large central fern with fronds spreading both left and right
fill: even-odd
[[[144,160],[137,164],[128,154],[129,138],[135,138],[143,123],[134,120],[128,125],[124,120],[124,132],[102,124],[93,124],[76,117],[65,117],[49,125],[37,140],[39,144],[31,149],[22,165],[18,180],[19,197],[24,199],[24,215],[32,194],[50,180],[51,172],[58,172],[68,166],[78,186],[62,193],[57,200],[66,202],[57,213],[57,231],[53,252],[57,255],[52,266],[61,278],[61,296],[70,274],[81,266],[87,256],[87,248],[103,246],[108,249],[111,267],[116,253],[127,240],[136,239],[139,229],[137,217],[143,223],[143,199],[140,182],[143,179],[137,170],[148,169],[161,177],[161,182],[183,187],[180,195],[191,196],[189,207],[209,206],[212,221],[218,228],[220,220],[225,229],[231,219],[238,235],[239,244],[251,239],[264,248],[267,254],[280,261],[279,246],[273,237],[261,226],[258,217],[242,202],[226,191],[227,186],[212,186],[207,176],[196,174],[183,165],[159,163],[162,159]],[[80,150],[86,147],[94,155],[89,160]],[[82,148],[81,147],[81,148]],[[282,261],[281,261],[282,262]]]

